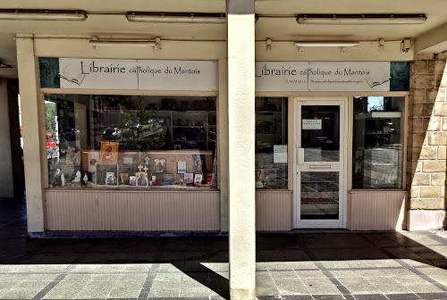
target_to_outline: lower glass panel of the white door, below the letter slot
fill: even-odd
[[[301,172],[301,220],[339,219],[339,172]]]

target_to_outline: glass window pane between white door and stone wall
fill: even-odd
[[[405,97],[354,97],[352,188],[401,188]]]

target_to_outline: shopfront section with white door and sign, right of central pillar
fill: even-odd
[[[409,63],[257,62],[257,93],[257,190],[291,199],[282,229],[405,227]]]

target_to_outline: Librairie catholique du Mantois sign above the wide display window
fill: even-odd
[[[219,84],[216,61],[40,58],[39,65],[41,87],[216,91]]]

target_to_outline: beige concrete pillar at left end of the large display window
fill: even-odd
[[[34,42],[17,37],[17,62],[21,94],[21,120],[28,232],[45,230],[44,182],[46,176],[46,138],[44,101],[38,96],[38,60]],[[45,165],[45,167],[44,167]]]

